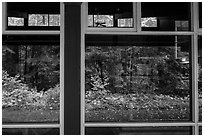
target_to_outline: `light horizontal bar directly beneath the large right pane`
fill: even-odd
[[[195,126],[196,123],[85,123],[85,127]]]

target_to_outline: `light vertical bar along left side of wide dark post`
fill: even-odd
[[[60,135],[64,135],[64,3],[60,3]]]

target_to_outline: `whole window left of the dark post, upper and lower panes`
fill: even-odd
[[[60,3],[3,6],[2,134],[62,134]]]

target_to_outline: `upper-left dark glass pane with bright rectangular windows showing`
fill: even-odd
[[[59,2],[7,2],[6,4],[7,30],[60,29]]]

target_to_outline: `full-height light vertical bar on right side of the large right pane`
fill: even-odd
[[[193,39],[192,39],[192,118],[195,126],[193,134],[199,134],[198,127],[198,3],[191,3],[191,18],[193,26]]]

